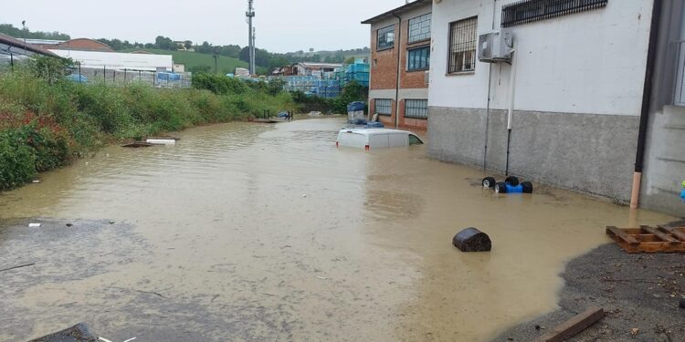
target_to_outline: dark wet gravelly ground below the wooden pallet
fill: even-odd
[[[603,307],[605,318],[570,341],[685,341],[685,254],[627,254],[604,244],[567,264],[562,276],[559,310],[495,341],[531,341],[591,306]]]

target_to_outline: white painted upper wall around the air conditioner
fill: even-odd
[[[443,0],[433,5],[429,106],[509,107],[511,66],[477,62],[447,75],[449,23],[478,16],[478,34],[501,25],[515,0]],[[516,48],[515,109],[638,116],[652,0],[610,0],[604,8],[511,27]],[[493,11],[494,5],[494,11]]]

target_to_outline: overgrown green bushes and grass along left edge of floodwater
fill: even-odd
[[[288,93],[217,76],[198,75],[192,89],[70,82],[69,61],[47,58],[0,72],[0,190],[111,142],[295,108]]]

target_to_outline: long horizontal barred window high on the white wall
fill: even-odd
[[[510,27],[533,21],[565,16],[606,6],[608,0],[525,0],[502,6],[501,26]]]

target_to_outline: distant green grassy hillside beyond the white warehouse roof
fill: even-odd
[[[214,72],[214,56],[201,54],[193,51],[169,51],[156,48],[142,48],[133,49],[131,51],[146,51],[157,55],[172,55],[174,56],[174,63],[182,63],[185,65],[186,71],[192,72]],[[236,71],[236,67],[248,67],[248,63],[238,60],[234,57],[216,57],[216,67],[218,73],[226,75]]]

